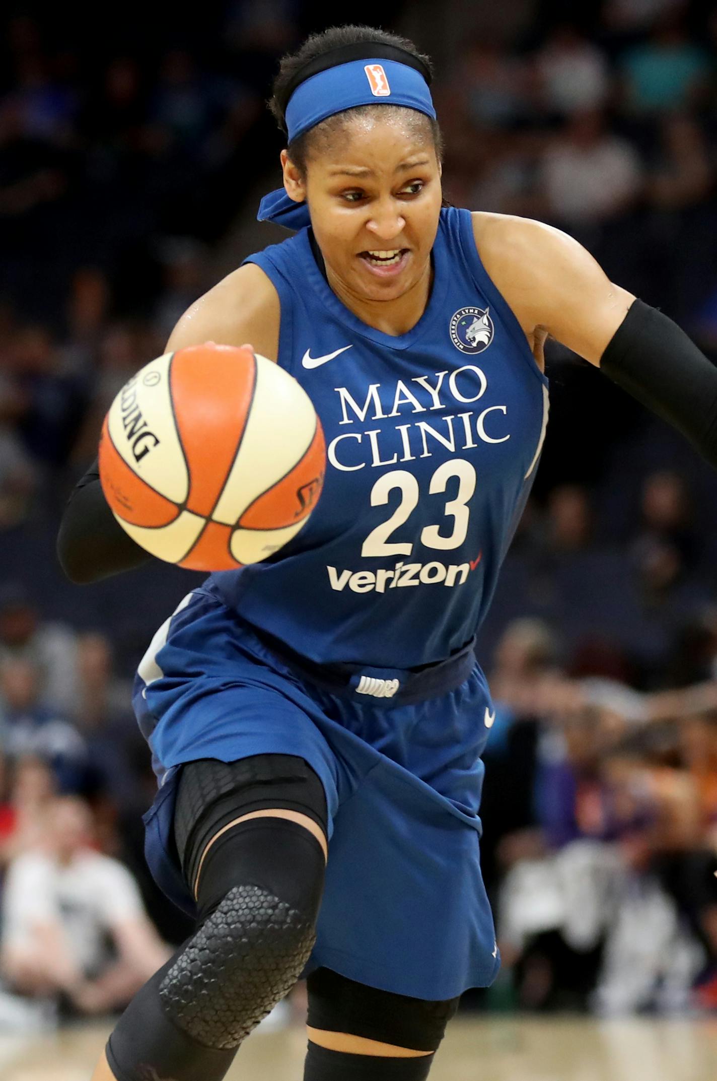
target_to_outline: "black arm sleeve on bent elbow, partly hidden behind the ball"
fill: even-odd
[[[96,458],[65,507],[57,534],[57,558],[70,582],[78,585],[131,571],[154,558],[135,544],[109,509]]]

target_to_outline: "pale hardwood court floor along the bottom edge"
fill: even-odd
[[[89,1081],[106,1026],[0,1036],[2,1081]],[[300,1081],[300,1028],[256,1032],[227,1081]],[[461,1017],[431,1081],[717,1081],[717,1017],[701,1020]]]

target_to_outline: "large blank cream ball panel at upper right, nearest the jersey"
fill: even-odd
[[[225,525],[238,522],[259,495],[301,461],[316,429],[316,414],[306,390],[266,357],[257,356],[256,360],[256,387],[246,428],[212,515]]]

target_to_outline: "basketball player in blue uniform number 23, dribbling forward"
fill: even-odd
[[[218,1081],[301,973],[306,1081],[427,1078],[459,996],[500,964],[478,867],[495,713],[472,642],[543,442],[545,337],[717,462],[717,373],[673,322],[562,232],[442,206],[430,81],[410,42],[366,27],[286,57],[284,187],[259,216],[296,235],[167,344],[251,343],[287,369],[328,466],[296,539],[212,575],[139,666],[148,860],[198,924],[94,1081]],[[150,558],[96,470],[58,544],[75,580]]]

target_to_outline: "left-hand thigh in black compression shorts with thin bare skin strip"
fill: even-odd
[[[194,892],[211,844],[240,819],[267,814],[305,826],[326,855],[328,812],[317,774],[294,755],[254,755],[234,762],[186,762],[174,816],[177,852]]]

